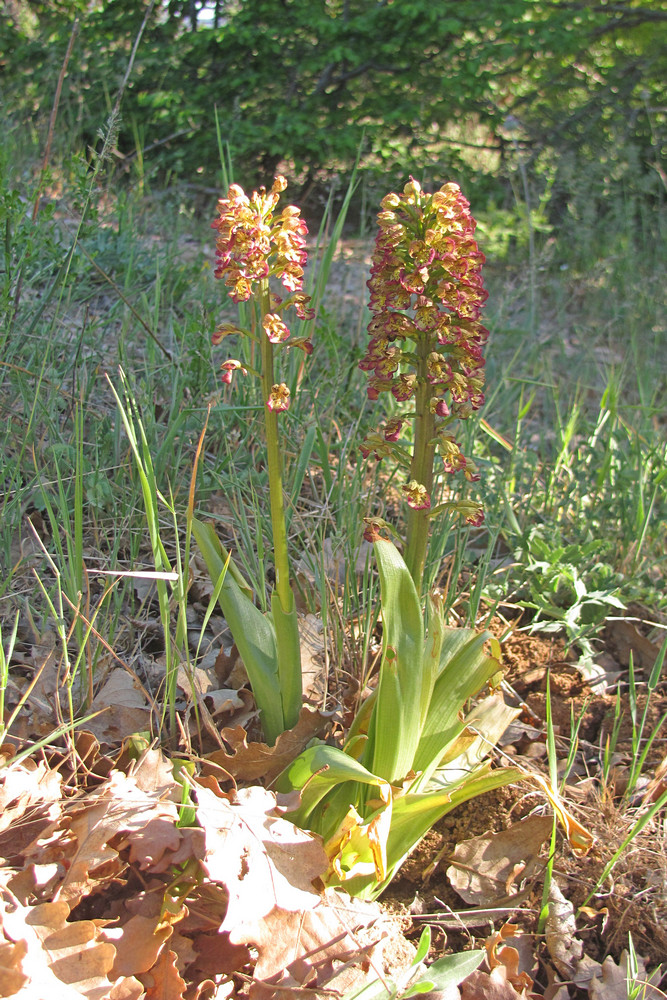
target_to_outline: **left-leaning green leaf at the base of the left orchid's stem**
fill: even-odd
[[[204,557],[213,584],[225,572],[228,556],[215,529],[196,518],[192,533]],[[229,566],[232,566],[231,561]],[[259,709],[264,736],[275,743],[286,726],[278,674],[278,648],[273,622],[256,608],[245,589],[237,582],[237,573],[227,572],[218,596],[218,604],[248,673]],[[297,713],[298,714],[298,713]]]

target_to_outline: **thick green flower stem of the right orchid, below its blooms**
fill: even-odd
[[[426,487],[429,496],[433,491],[433,460],[435,458],[435,416],[430,410],[431,388],[427,378],[428,356],[432,345],[428,337],[420,337],[417,344],[417,390],[415,393],[415,444],[410,464],[410,479]],[[417,593],[422,592],[424,564],[428,549],[430,510],[410,510],[405,562],[410,570]]]

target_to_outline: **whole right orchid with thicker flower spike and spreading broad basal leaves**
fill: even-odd
[[[475,222],[457,185],[427,194],[411,178],[402,194],[383,199],[378,223],[368,282],[371,336],[360,368],[369,374],[371,399],[390,393],[403,410],[362,451],[406,470],[405,555],[381,536],[389,527],[382,518],[367,519],[364,535],[380,577],[377,685],[342,747],[312,744],[278,781],[281,791],[300,792],[293,821],[324,840],[327,883],[366,898],[382,892],[445,813],[523,777],[516,768],[492,768],[488,759],[517,710],[499,693],[468,707],[502,676],[497,640],[448,628],[436,596],[428,597],[424,616],[420,599],[430,518],[453,510],[472,524],[483,520],[479,504],[451,499],[451,490],[432,503],[439,471],[479,478],[453,430],[484,400],[488,331],[479,318],[486,293]]]

